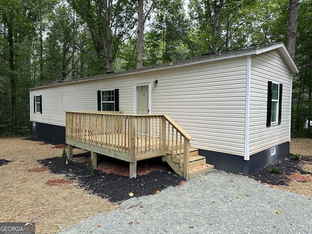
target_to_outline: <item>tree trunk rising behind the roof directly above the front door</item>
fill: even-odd
[[[144,16],[143,0],[137,1],[137,68],[143,67],[143,33],[144,33]]]

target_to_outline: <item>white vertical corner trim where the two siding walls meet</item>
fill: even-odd
[[[250,85],[252,73],[252,57],[247,57],[247,74],[246,74],[246,102],[245,102],[245,152],[244,159],[250,160],[249,157],[249,108],[250,108]]]

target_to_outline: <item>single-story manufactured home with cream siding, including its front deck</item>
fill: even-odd
[[[190,140],[188,147],[197,149],[216,169],[250,175],[289,154],[294,73],[298,69],[287,48],[276,43],[51,83],[30,89],[31,134],[58,141],[66,138],[67,144],[98,154],[108,147],[103,154],[130,163],[136,162],[135,156],[118,156],[118,149],[126,154],[127,148],[141,147],[137,153],[149,152],[141,159],[152,157],[151,152],[159,156],[164,151],[160,153],[147,145],[157,145],[158,140],[157,147],[167,147],[167,151],[171,148],[173,155],[174,148],[184,147],[177,137],[181,134]],[[107,114],[110,111],[112,114]],[[102,119],[97,113],[109,117]],[[147,120],[139,120],[143,116]],[[172,130],[165,122],[174,126]],[[171,134],[174,129],[179,129],[178,133]],[[112,142],[110,146],[96,146],[90,137],[95,136],[95,131],[98,142],[115,131],[116,145],[119,135],[124,136],[124,143],[114,150],[109,148]],[[136,138],[131,131],[142,140],[145,136],[144,143],[140,143],[145,150],[129,141]],[[85,139],[79,141],[82,135]],[[156,143],[146,143],[147,136],[154,135]],[[176,144],[170,143],[169,135]],[[132,170],[136,170],[133,166]]]

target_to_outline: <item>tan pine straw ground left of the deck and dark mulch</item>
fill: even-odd
[[[0,222],[35,222],[36,234],[58,233],[90,215],[115,209],[62,175],[48,172],[37,160],[61,156],[62,149],[38,141],[0,138]],[[78,153],[75,149],[74,153]],[[58,183],[50,186],[47,182]]]

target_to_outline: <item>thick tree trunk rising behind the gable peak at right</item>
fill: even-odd
[[[298,22],[298,0],[289,0],[288,29],[287,29],[287,49],[294,59],[297,22]]]

